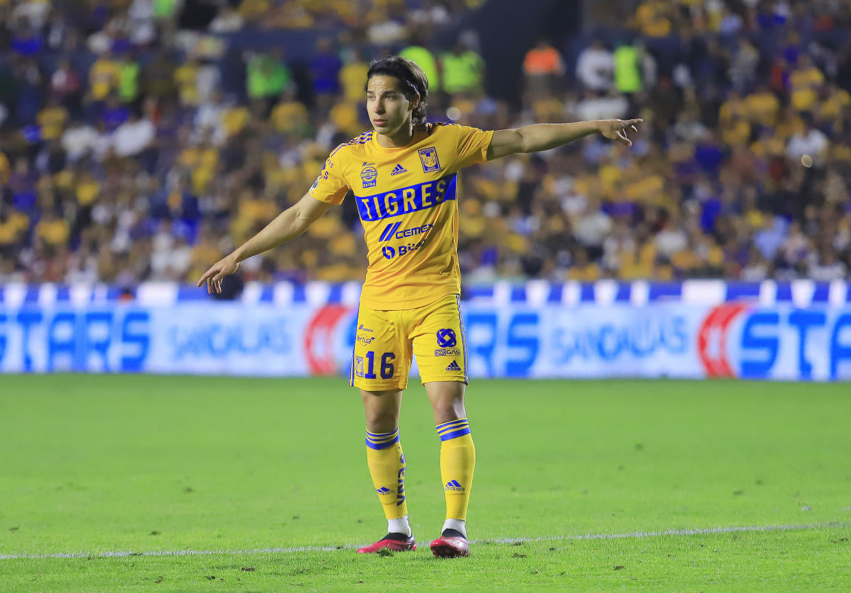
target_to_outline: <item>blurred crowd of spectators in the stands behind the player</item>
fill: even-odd
[[[530,48],[519,102],[488,96],[477,34],[431,41],[482,3],[0,0],[0,282],[194,282],[369,128],[389,52],[426,71],[432,121],[643,117],[631,148],[466,170],[466,282],[849,278],[848,3],[637,3],[622,30]],[[236,47],[280,28],[339,34],[305,60]],[[347,199],[243,277],[361,279],[361,235]]]

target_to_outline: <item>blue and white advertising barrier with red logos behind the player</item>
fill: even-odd
[[[468,373],[851,379],[844,282],[657,287],[529,282],[471,290],[462,304]],[[198,299],[206,295],[200,289],[182,298],[186,289],[174,284],[140,285],[132,299],[116,299],[120,292],[108,287],[6,285],[0,371],[345,376],[358,288],[249,285],[240,300],[217,302]]]

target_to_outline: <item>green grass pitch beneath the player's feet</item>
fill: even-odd
[[[345,379],[0,375],[0,591],[851,590],[849,385],[474,380],[453,560],[411,385],[420,548],[358,556],[386,524]]]

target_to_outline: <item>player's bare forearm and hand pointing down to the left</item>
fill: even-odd
[[[207,282],[207,292],[221,292],[221,279],[239,269],[239,265],[252,255],[262,254],[271,248],[276,248],[282,243],[288,242],[307,230],[317,219],[328,212],[332,204],[320,202],[309,193],[305,194],[293,206],[284,210],[275,217],[262,231],[248,239],[243,245],[220,259],[205,271],[198,280],[200,287]]]

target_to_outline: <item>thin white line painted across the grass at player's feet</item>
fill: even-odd
[[[666,529],[665,531],[631,531],[628,533],[585,533],[552,535],[541,538],[471,539],[471,544],[524,544],[537,541],[578,541],[583,539],[642,539],[671,535],[707,535],[713,533],[760,533],[770,531],[809,531],[826,528],[851,527],[851,523],[830,522],[808,525],[747,525],[740,527],[702,527],[696,529]],[[252,556],[255,554],[295,554],[298,552],[328,552],[354,550],[355,544],[298,545],[287,548],[254,548],[251,550],[151,550],[146,552],[66,552],[60,554],[0,554],[0,560],[46,560],[48,558],[126,558],[128,556]]]

